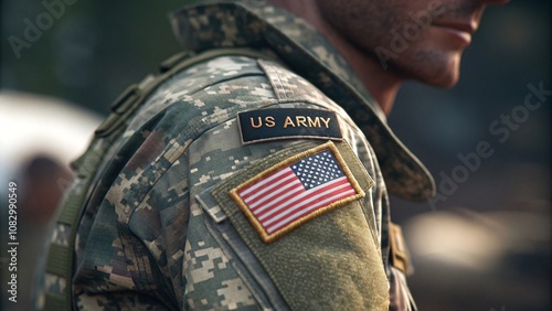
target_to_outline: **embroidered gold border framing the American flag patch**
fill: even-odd
[[[295,163],[301,159],[305,159],[307,157],[310,157],[310,156],[314,156],[318,152],[321,152],[323,150],[330,150],[331,153],[333,153],[333,157],[336,158],[337,162],[339,163],[339,165],[341,167],[343,173],[346,174],[346,176],[349,179],[349,182],[351,183],[352,187],[354,189],[354,191],[357,192],[357,194],[354,195],[351,195],[351,196],[348,196],[346,199],[341,199],[341,200],[338,200],[331,204],[328,204],[326,206],[322,206],[318,210],[316,210],[315,212],[311,212],[300,218],[298,218],[297,221],[290,223],[289,225],[278,229],[277,232],[273,233],[273,234],[267,234],[265,232],[265,229],[263,228],[263,225],[261,225],[261,223],[257,221],[257,218],[253,215],[253,212],[247,207],[247,204],[242,200],[242,197],[240,197],[240,195],[237,194],[237,192],[240,190],[242,190],[243,187],[246,187],[248,186],[250,184],[252,183],[255,183],[257,181],[259,181],[261,179],[263,179],[264,176],[268,175],[268,174],[272,174],[278,170],[280,170],[282,168],[284,167],[287,167],[291,163]],[[329,212],[333,208],[337,208],[339,206],[342,206],[347,203],[350,203],[350,202],[353,202],[353,201],[357,201],[361,197],[364,197],[365,196],[365,193],[364,191],[360,187],[359,183],[357,182],[357,180],[354,179],[354,175],[352,174],[351,170],[349,169],[349,167],[347,165],[346,161],[343,160],[343,158],[341,157],[341,153],[339,152],[339,150],[337,149],[336,144],[333,144],[333,142],[331,141],[328,141],[323,144],[320,144],[316,148],[312,148],[312,149],[309,149],[307,151],[304,151],[304,152],[300,152],[294,157],[290,157],[286,160],[284,160],[283,162],[279,162],[270,168],[268,168],[267,170],[256,174],[255,176],[253,176],[252,179],[247,180],[246,182],[237,185],[236,187],[232,189],[230,191],[230,197],[237,204],[237,206],[240,207],[240,210],[242,210],[242,212],[244,213],[245,217],[250,221],[250,223],[252,224],[252,226],[255,228],[255,230],[257,232],[257,234],[261,236],[261,239],[268,244],[268,243],[273,243],[274,240],[278,239],[279,237],[282,237],[283,235],[287,234],[288,232],[293,230],[294,228],[302,225],[304,223],[315,218],[315,217],[318,217],[320,215],[322,215],[323,213],[326,212]]]

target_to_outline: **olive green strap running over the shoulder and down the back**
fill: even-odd
[[[61,292],[59,293],[46,291],[44,301],[45,310],[72,310],[74,307],[72,303],[72,277],[75,261],[76,227],[94,187],[93,181],[99,164],[104,161],[104,157],[112,144],[123,132],[126,121],[161,83],[177,72],[208,60],[226,55],[243,55],[276,61],[275,57],[270,57],[266,53],[250,49],[217,49],[198,55],[182,52],[162,62],[157,75],[148,75],[139,84],[130,85],[112,104],[112,112],[96,129],[86,152],[72,163],[75,171],[74,179],[59,205],[60,214],[55,224],[64,228],[68,240],[65,240],[65,243],[51,242],[45,267],[46,272],[60,279],[60,283],[64,286],[61,286]]]

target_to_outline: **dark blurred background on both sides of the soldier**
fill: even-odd
[[[71,178],[67,163],[117,95],[179,51],[167,14],[190,1],[66,0],[49,13],[51,2],[0,2],[2,249],[10,180],[20,197],[19,302],[7,301],[2,265],[3,310],[29,310],[34,261]],[[392,197],[421,310],[551,310],[551,96],[534,95],[531,104],[542,105],[523,108],[531,89],[552,89],[550,7],[513,0],[488,8],[456,87],[407,83],[399,94],[389,122],[440,195],[432,204]],[[38,20],[41,29],[32,30]],[[469,167],[461,159],[474,159],[481,143],[491,154]]]

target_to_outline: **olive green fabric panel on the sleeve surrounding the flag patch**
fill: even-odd
[[[229,197],[229,192],[248,178],[314,146],[301,144],[256,162],[215,187],[212,195],[293,310],[388,310],[388,279],[373,218],[368,216],[373,212],[363,206],[363,200],[325,213],[265,244]],[[368,190],[372,180],[350,147],[347,142],[336,146],[360,186]]]

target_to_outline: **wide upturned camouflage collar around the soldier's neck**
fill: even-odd
[[[270,49],[352,117],[374,148],[390,193],[408,201],[425,201],[435,193],[433,178],[388,127],[385,115],[350,65],[304,20],[247,0],[184,7],[172,13],[171,22],[187,51]]]

